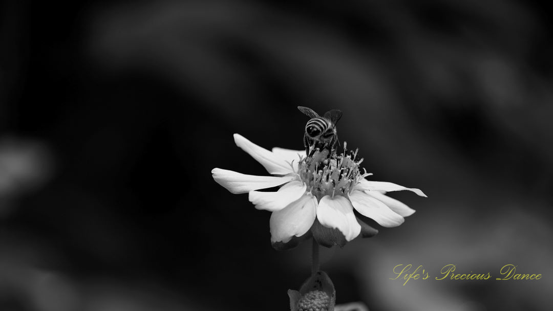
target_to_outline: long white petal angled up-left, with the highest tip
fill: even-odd
[[[294,172],[283,156],[274,154],[263,147],[255,145],[242,135],[234,134],[234,143],[236,143],[238,147],[241,147],[242,150],[248,152],[248,154],[263,165],[270,174],[286,175]]]

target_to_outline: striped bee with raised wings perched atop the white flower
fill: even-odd
[[[332,109],[322,117],[311,108],[298,106],[298,109],[311,119],[305,125],[304,146],[305,153],[310,156],[319,148],[319,151],[325,149],[329,154],[338,142],[336,134],[336,123],[342,118],[342,112]]]

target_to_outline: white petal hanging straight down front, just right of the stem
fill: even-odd
[[[349,200],[342,196],[324,196],[317,207],[317,219],[327,228],[334,228],[346,237],[347,241],[355,239],[361,233],[353,207]]]

